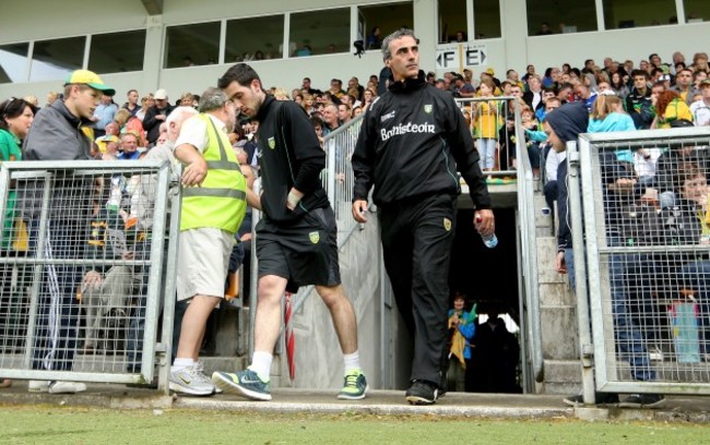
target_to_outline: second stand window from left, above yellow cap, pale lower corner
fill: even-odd
[[[84,65],[86,37],[35,41],[29,82],[66,79]]]

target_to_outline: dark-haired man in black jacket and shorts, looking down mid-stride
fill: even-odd
[[[246,63],[220,79],[239,111],[259,121],[257,133],[263,193],[257,225],[259,286],[251,364],[237,373],[216,372],[212,378],[227,392],[270,400],[269,374],[281,328],[284,290],[315,285],[328,306],[345,368],[340,399],[362,399],[367,381],[357,351],[357,321],[340,278],[338,228],[320,181],[326,153],[308,116],[293,101],[267,96],[259,75]]]

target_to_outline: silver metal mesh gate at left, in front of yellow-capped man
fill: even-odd
[[[158,161],[2,164],[1,376],[146,383],[169,368],[170,180]]]

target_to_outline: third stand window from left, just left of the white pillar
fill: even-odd
[[[145,29],[92,36],[88,69],[97,73],[143,70]]]

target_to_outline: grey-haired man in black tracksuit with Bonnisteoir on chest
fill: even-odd
[[[434,404],[447,345],[449,263],[455,232],[457,170],[471,190],[474,224],[494,231],[478,153],[451,95],[426,83],[417,39],[400,29],[382,44],[389,91],[365,115],[353,154],[353,217],[378,205],[384,266],[398,308],[414,336],[411,404]]]

